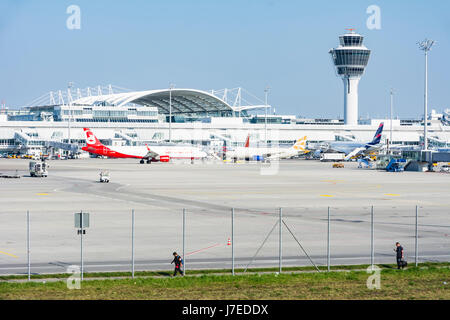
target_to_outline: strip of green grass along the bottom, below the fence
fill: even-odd
[[[381,289],[363,271],[0,283],[0,299],[450,299],[450,269],[383,269]]]

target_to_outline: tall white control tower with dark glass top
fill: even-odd
[[[330,54],[336,73],[344,81],[344,124],[358,124],[358,84],[369,62],[370,50],[363,45],[364,37],[353,29],[339,37],[339,46]]]

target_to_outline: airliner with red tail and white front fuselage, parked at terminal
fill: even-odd
[[[202,159],[207,154],[192,146],[177,145],[145,145],[145,146],[105,146],[91,132],[84,128],[86,133],[86,146],[81,148],[92,154],[110,158],[140,159],[140,163],[169,162],[170,159]]]

